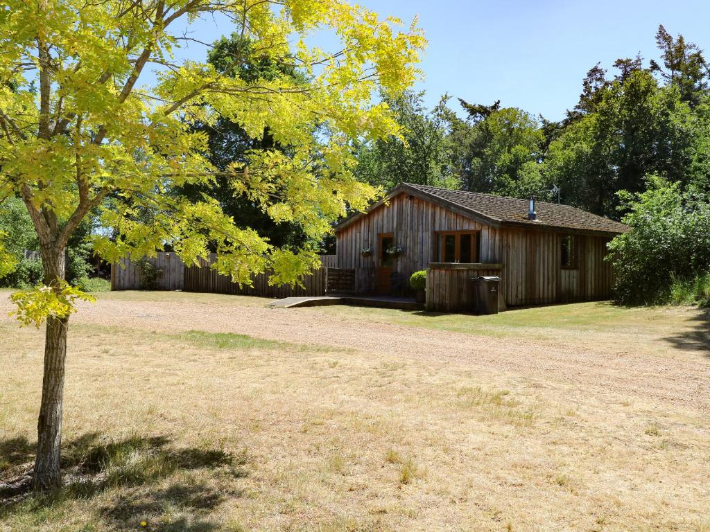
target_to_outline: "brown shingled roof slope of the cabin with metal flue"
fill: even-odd
[[[528,200],[491,196],[478,192],[437,189],[422,184],[404,183],[403,188],[415,189],[427,196],[435,196],[473,214],[479,214],[497,222],[523,223],[526,226],[550,226],[579,229],[582,231],[603,231],[605,233],[624,233],[628,227],[618,221],[591,214],[576,207],[535,202],[537,221],[528,220]]]

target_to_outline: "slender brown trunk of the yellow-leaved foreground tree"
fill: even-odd
[[[64,249],[42,248],[45,284],[55,286],[65,278]],[[37,422],[37,459],[33,476],[34,489],[53,489],[62,484],[60,449],[62,445],[62,397],[67,358],[68,318],[47,319],[45,333],[42,404]]]

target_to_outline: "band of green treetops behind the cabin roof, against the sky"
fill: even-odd
[[[643,192],[651,174],[708,192],[710,65],[697,45],[663,26],[656,40],[660,63],[637,55],[620,57],[609,69],[591,67],[577,104],[561,121],[501,100],[459,98],[460,113],[442,104],[427,111],[421,95],[407,106],[393,104],[406,142],[378,141],[361,150],[359,172],[388,186],[433,182],[549,200],[559,191],[566,204],[616,219],[628,209],[618,193]],[[438,149],[420,149],[427,145]]]

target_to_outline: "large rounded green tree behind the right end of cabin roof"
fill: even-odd
[[[618,218],[616,192],[643,191],[646,174],[687,181],[697,121],[676,87],[660,87],[648,70],[633,67],[595,99],[545,157],[543,174],[562,187],[564,202]]]

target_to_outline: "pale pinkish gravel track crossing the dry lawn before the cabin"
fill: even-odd
[[[578,345],[540,340],[501,340],[351,320],[329,314],[327,307],[271,309],[188,301],[99,299],[90,311],[80,311],[72,320],[151,331],[199,329],[241,333],[293,343],[395,354],[403,359],[457,364],[473,371],[554,380],[584,387],[589,393],[613,392],[665,408],[710,413],[710,358],[698,350],[684,352],[674,348],[673,356],[662,358],[638,352],[633,345],[628,345],[628,350],[624,351],[608,350],[603,338],[582,349]]]

